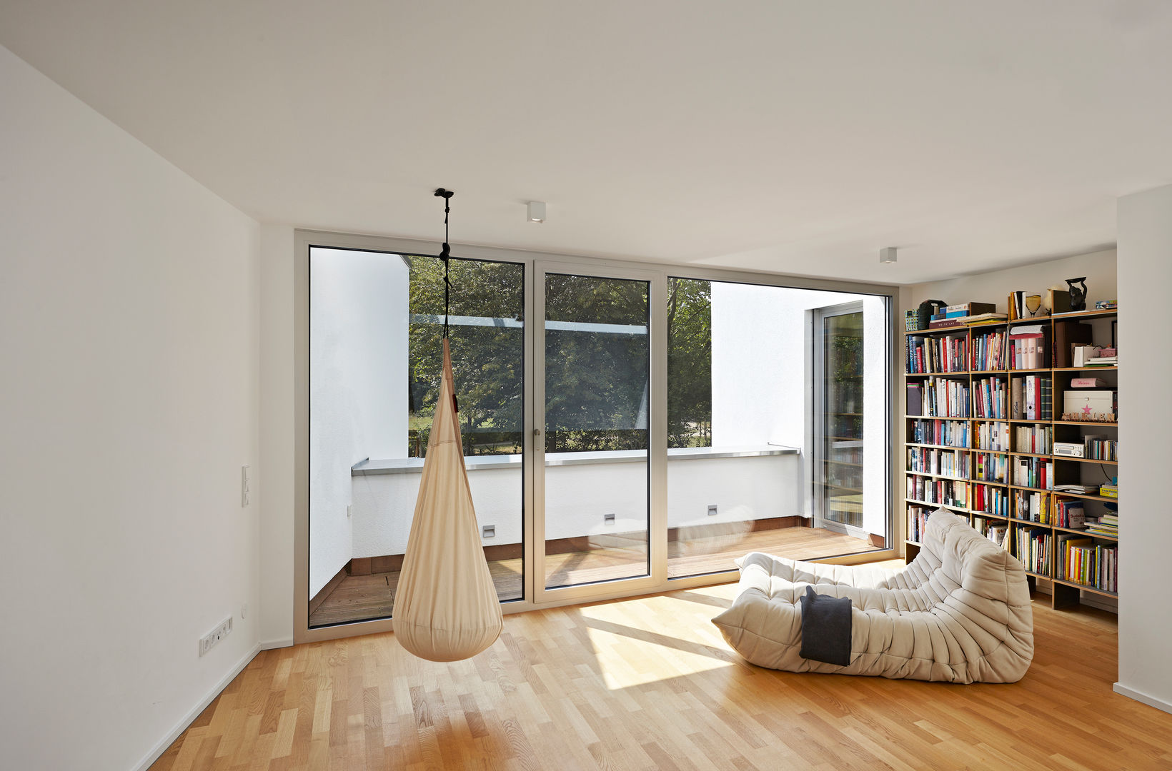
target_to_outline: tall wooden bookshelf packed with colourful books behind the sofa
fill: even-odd
[[[911,356],[908,357],[908,365],[905,366],[905,386],[920,386],[920,401],[922,405],[920,412],[931,413],[933,411],[925,394],[929,383],[936,388],[934,397],[936,393],[940,393],[945,399],[953,399],[953,408],[949,412],[956,412],[955,406],[958,402],[953,398],[956,390],[963,388],[966,392],[962,397],[966,405],[963,409],[965,415],[917,415],[907,413],[908,390],[905,387],[902,412],[906,443],[902,462],[906,494],[904,517],[906,523],[905,535],[907,538],[904,544],[908,562],[920,550],[920,542],[914,537],[914,514],[918,509],[922,509],[924,514],[927,515],[938,508],[943,508],[959,516],[967,517],[969,524],[979,529],[981,526],[986,530],[989,528],[1004,528],[1007,530],[1006,538],[1009,539],[1007,550],[1026,564],[1031,588],[1040,580],[1049,584],[1054,607],[1076,606],[1082,599],[1086,598],[1099,598],[1102,601],[1102,598],[1118,597],[1117,592],[1109,588],[1109,586],[1113,587],[1113,583],[1109,583],[1105,574],[1099,576],[1095,584],[1069,580],[1070,576],[1064,571],[1067,550],[1059,545],[1072,538],[1077,541],[1089,539],[1088,545],[1083,546],[1078,557],[1082,560],[1095,562],[1096,559],[1103,559],[1105,562],[1106,550],[1116,548],[1118,538],[1093,535],[1078,528],[1059,526],[1058,524],[1059,505],[1062,502],[1082,502],[1086,516],[1097,517],[1104,514],[1118,514],[1113,509],[1105,508],[1108,504],[1117,505],[1118,498],[1099,495],[1097,490],[1091,490],[1088,494],[1068,494],[1052,489],[1055,484],[1064,483],[1086,486],[1110,483],[1110,477],[1118,474],[1118,460],[1115,459],[1098,460],[1054,454],[1055,441],[1082,442],[1086,436],[1097,436],[1111,441],[1117,441],[1118,439],[1119,424],[1117,421],[1061,420],[1064,394],[1067,391],[1072,390],[1070,385],[1071,379],[1079,377],[1098,378],[1103,380],[1103,385],[1098,390],[1117,391],[1118,367],[1057,366],[1059,363],[1067,365],[1070,362],[1067,360],[1068,357],[1063,357],[1059,362],[1059,358],[1055,354],[1055,344],[1058,335],[1064,335],[1065,337],[1070,337],[1071,333],[1089,335],[1097,345],[1110,344],[1112,342],[1110,339],[1110,321],[1116,318],[1117,314],[1118,311],[1115,309],[1058,314],[1049,317],[1023,318],[1011,322],[981,323],[967,328],[948,326],[945,329],[905,332],[906,343],[919,345],[921,349],[933,345],[935,346],[934,351],[939,350],[939,356],[932,357],[932,366],[918,367],[932,369],[933,371],[931,372],[906,372],[912,365],[913,359]],[[1069,323],[1088,324],[1090,330],[1078,329],[1072,332],[1069,326],[1063,330],[1059,330],[1057,326],[1058,324]],[[1049,364],[1049,366],[1015,367],[1015,362],[1009,351],[1010,328],[1033,324],[1042,325],[1042,339],[1045,342],[1042,363]],[[1000,363],[1004,364],[1004,366],[987,369],[988,365],[982,366],[982,362],[977,362],[974,357],[974,346],[979,339],[999,332],[1001,333],[999,343],[1002,349],[995,356],[986,356],[984,359],[1000,358]],[[940,343],[941,338],[949,338],[948,343]],[[932,343],[928,343],[929,340]],[[960,351],[962,351],[962,360],[956,359],[956,354]],[[917,363],[921,360],[928,360],[926,351],[922,358],[915,359]],[[941,367],[946,371],[936,371]],[[947,371],[949,369],[953,371]],[[1044,391],[1044,395],[1048,397],[1044,399],[1044,405],[1037,405],[1038,409],[1045,408],[1041,414],[1026,417],[1020,414],[1020,412],[1015,412],[1015,407],[1011,404],[1013,392],[1015,391],[1013,379],[1024,379],[1027,377],[1044,379],[1048,383],[1044,390],[1041,387],[1036,390],[1038,395],[1042,395]],[[992,393],[994,379],[996,379],[997,387],[1003,388],[1003,394],[995,395]],[[1038,383],[1042,381],[1040,380]],[[1003,401],[999,401],[997,395]],[[986,414],[996,417],[975,417],[982,411]],[[918,425],[924,427],[925,433],[928,435],[918,436],[915,433]],[[999,435],[990,435],[984,439],[984,443],[992,443],[996,440],[997,448],[977,447],[977,436],[982,432],[982,428],[986,429],[986,433],[993,434],[994,425],[997,425]],[[1000,436],[1004,429],[1008,429],[1008,436]],[[1037,433],[1042,432],[1047,441],[1042,449],[1048,449],[1049,452],[1030,452],[1038,449],[1036,443],[1033,446],[1027,445],[1030,450],[1018,449],[1018,432],[1026,432],[1023,438],[1030,436],[1033,432],[1035,441]],[[941,443],[942,436],[947,436],[942,440],[943,443]],[[962,440],[960,439],[961,436],[963,438]],[[915,452],[915,455],[913,455],[912,450]],[[931,455],[932,453],[935,455]],[[945,454],[948,455],[947,459],[943,457]],[[960,461],[962,454],[967,456],[967,461]],[[918,460],[917,464],[912,463],[913,456]],[[983,474],[979,474],[977,470],[979,456],[984,456],[982,459],[986,461]],[[963,464],[966,462],[967,466],[960,469],[963,473],[959,476],[956,474],[942,473],[939,468],[933,467],[933,463],[948,463],[955,470],[958,463]],[[1029,479],[1018,479],[1015,476],[1017,463],[1033,466],[1037,474]],[[912,470],[913,468],[920,470]],[[1042,477],[1043,469],[1044,482]],[[980,479],[981,475],[992,475],[999,479],[982,480]],[[1001,479],[1002,476],[1003,479]],[[915,486],[917,481],[920,487]],[[936,486],[941,487],[938,489]],[[979,488],[982,489],[979,490]],[[919,490],[922,497],[912,495],[915,490]],[[995,495],[994,490],[996,491]],[[948,500],[953,502],[939,503],[928,500],[940,497],[940,495],[949,496]],[[996,505],[996,512],[982,511],[976,508],[979,496],[983,496],[989,508]],[[1036,508],[1031,509],[1031,503]],[[1042,519],[1042,522],[1034,521],[1035,518]],[[1023,537],[1022,531],[1029,533],[1030,537]],[[1076,548],[1075,551],[1078,551],[1078,549]],[[1030,556],[1034,556],[1036,562],[1030,560]],[[1117,553],[1111,556],[1112,566],[1116,557]],[[1040,566],[1044,566],[1044,570],[1040,571]]]

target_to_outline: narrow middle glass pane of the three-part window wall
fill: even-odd
[[[646,281],[545,281],[545,585],[647,576]]]

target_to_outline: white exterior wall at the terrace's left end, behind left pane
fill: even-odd
[[[350,467],[407,455],[409,274],[397,255],[309,250],[309,597],[349,562]]]

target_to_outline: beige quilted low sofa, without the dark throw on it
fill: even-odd
[[[759,667],[1015,682],[1034,659],[1024,569],[945,510],[928,518],[920,553],[902,569],[822,565],[761,552],[747,555],[740,566],[737,597],[713,622]],[[851,598],[849,666],[799,655],[802,596],[809,585],[818,594]]]

